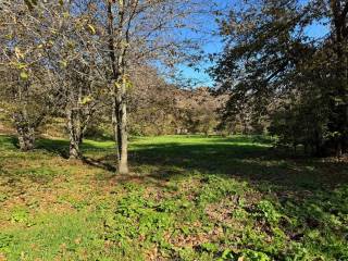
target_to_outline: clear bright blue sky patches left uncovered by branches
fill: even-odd
[[[306,1],[306,0],[304,0]],[[215,0],[217,3],[217,7],[222,10],[228,10],[226,9],[226,2],[233,3],[235,1],[231,0]],[[219,30],[219,25],[215,22],[215,18],[213,16],[207,15],[204,17],[207,29],[216,33]],[[204,25],[206,26],[206,25]],[[320,38],[325,36],[328,33],[328,25],[324,25],[322,22],[318,22],[312,24],[311,26],[308,26],[306,28],[306,34],[309,37],[313,38]],[[207,37],[207,35],[204,36]],[[202,49],[206,53],[220,53],[223,50],[223,42],[222,38],[219,35],[212,34],[209,37],[209,40],[203,45]],[[179,70],[182,71],[182,75],[185,79],[188,79],[194,83],[194,86],[208,86],[212,87],[214,86],[213,79],[209,76],[209,74],[206,72],[209,67],[211,67],[213,63],[211,62],[202,62],[199,65],[199,70],[195,70],[192,67],[188,67],[185,65],[181,65]]]

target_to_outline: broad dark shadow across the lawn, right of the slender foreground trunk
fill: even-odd
[[[335,187],[348,182],[347,162],[324,162],[260,145],[234,144],[236,139],[231,138],[225,141],[141,145],[130,152],[129,158],[136,169],[156,166],[156,171],[149,174],[160,179],[198,171],[247,179],[252,184],[264,182],[286,190]]]

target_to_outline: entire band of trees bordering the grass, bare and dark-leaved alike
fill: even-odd
[[[71,158],[82,157],[86,136],[111,126],[122,174],[129,134],[268,133],[340,157],[347,13],[341,0],[256,0],[220,11],[203,0],[3,0],[1,112],[23,151],[64,117]],[[209,70],[215,86],[184,89],[169,78],[177,64],[206,58],[199,30],[212,14],[224,40]]]

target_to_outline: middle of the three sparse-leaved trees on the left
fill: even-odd
[[[104,105],[105,85],[104,58],[100,54],[100,35],[97,35],[98,20],[91,1],[61,3],[54,12],[60,49],[51,50],[50,58],[59,75],[64,96],[66,128],[70,137],[70,158],[80,158],[80,144],[92,117]]]

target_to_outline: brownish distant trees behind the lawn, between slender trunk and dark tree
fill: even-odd
[[[209,88],[186,89],[169,84],[157,70],[149,66],[139,67],[130,80],[130,134],[209,134],[214,130],[216,109],[223,102],[215,99]]]

